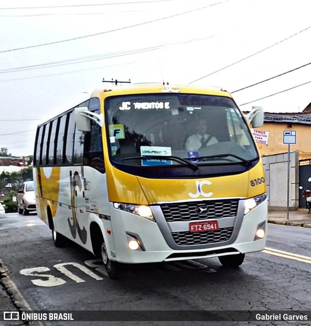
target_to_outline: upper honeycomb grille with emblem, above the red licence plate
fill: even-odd
[[[178,222],[235,217],[238,205],[238,199],[220,199],[161,204],[161,209],[166,222]]]

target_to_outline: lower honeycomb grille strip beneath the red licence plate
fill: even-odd
[[[207,232],[173,232],[172,236],[176,244],[187,246],[193,244],[208,244],[224,242],[230,239],[233,227],[225,227],[216,231]]]

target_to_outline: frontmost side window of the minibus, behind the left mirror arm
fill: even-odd
[[[89,110],[100,113],[98,98],[90,99]],[[93,167],[101,173],[105,172],[102,128],[93,120],[91,120],[91,131],[85,133],[84,165]]]

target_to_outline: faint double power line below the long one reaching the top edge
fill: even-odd
[[[124,56],[124,55],[130,55],[130,54],[137,54],[137,53],[142,53],[142,52],[147,52],[147,51],[159,50],[159,49],[167,48],[167,47],[170,47],[170,46],[183,45],[183,44],[187,44],[187,43],[202,41],[202,40],[206,40],[206,39],[209,39],[211,37],[214,37],[214,36],[215,35],[209,35],[209,36],[206,36],[206,37],[194,38],[194,39],[190,39],[190,40],[188,39],[188,40],[184,40],[184,41],[180,41],[180,42],[156,45],[156,46],[149,47],[149,48],[142,48],[142,49],[129,50],[129,51],[110,52],[110,53],[107,53],[107,54],[89,55],[89,56],[85,56],[85,57],[68,59],[68,60],[61,60],[61,61],[54,61],[54,62],[39,64],[39,65],[24,66],[24,67],[10,68],[10,69],[2,69],[2,70],[0,70],[0,74],[1,73],[8,73],[8,72],[24,71],[24,70],[59,67],[59,66],[72,65],[72,64],[78,64],[78,63],[83,63],[83,62],[90,62],[90,61],[97,61],[97,60],[103,60],[103,59],[108,59],[108,58],[115,58],[115,57]]]

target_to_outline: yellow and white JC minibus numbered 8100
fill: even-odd
[[[42,123],[34,153],[36,208],[55,246],[70,239],[126,264],[219,257],[238,267],[266,243],[261,158],[221,88],[112,85]]]

